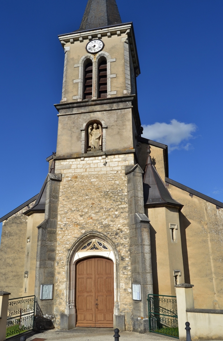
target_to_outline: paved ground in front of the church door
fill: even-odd
[[[131,331],[120,331],[120,341],[176,341],[177,339],[158,335],[155,333],[139,334]],[[47,341],[114,341],[114,329],[112,328],[75,328],[70,330],[47,330],[44,332],[30,333],[27,341],[35,338],[47,339]],[[13,338],[13,341],[19,341]],[[12,340],[12,339],[11,339]],[[37,341],[37,340],[36,340]],[[41,341],[41,340],[39,340]]]

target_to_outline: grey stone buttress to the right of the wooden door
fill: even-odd
[[[144,211],[143,170],[126,166],[132,283],[141,284],[141,301],[132,301],[132,329],[149,331],[147,296],[153,293],[149,219]]]

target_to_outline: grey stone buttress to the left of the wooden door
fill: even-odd
[[[38,239],[35,276],[35,295],[37,297],[35,325],[37,329],[51,329],[55,322],[53,299],[40,300],[40,288],[41,284],[55,284],[57,214],[61,180],[61,174],[48,174],[45,220],[37,226]]]

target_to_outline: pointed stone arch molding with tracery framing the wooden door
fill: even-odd
[[[92,245],[99,242],[98,250],[94,248],[93,250],[89,250],[87,244],[92,241]],[[96,242],[95,242],[96,241]],[[106,248],[103,249],[102,246]],[[96,244],[97,245],[97,244]],[[84,246],[87,246],[86,251],[82,249]],[[81,250],[82,249],[82,250]],[[114,314],[118,314],[119,307],[119,295],[117,293],[117,283],[119,282],[118,279],[118,267],[119,267],[119,256],[116,248],[114,247],[112,241],[105,235],[98,233],[98,232],[88,232],[82,235],[77,239],[77,241],[71,247],[70,252],[67,257],[67,289],[66,289],[66,312],[67,316],[75,315],[76,308],[75,308],[75,271],[76,271],[76,263],[82,258],[86,258],[89,256],[101,256],[105,258],[109,258],[114,263]],[[76,320],[76,317],[71,318],[71,320]],[[75,324],[75,321],[73,321]],[[74,328],[74,327],[73,327]]]

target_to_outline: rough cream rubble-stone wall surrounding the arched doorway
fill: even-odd
[[[104,165],[106,162],[106,165]],[[58,208],[55,326],[66,310],[67,256],[77,238],[87,231],[108,236],[118,251],[120,271],[118,301],[125,314],[126,330],[131,330],[131,268],[125,166],[134,164],[133,154],[109,155],[56,161],[55,173],[62,173]]]

